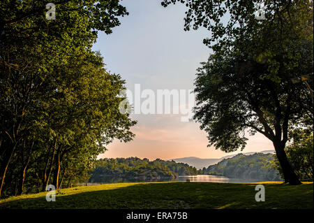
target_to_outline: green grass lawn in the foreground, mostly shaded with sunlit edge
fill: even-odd
[[[264,202],[255,201],[257,183],[140,182],[61,189],[55,202],[45,192],[14,196],[0,208],[313,208],[313,183],[260,183]]]

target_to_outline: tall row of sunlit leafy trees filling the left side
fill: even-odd
[[[0,197],[80,182],[108,143],[134,136],[119,113],[125,81],[91,50],[126,8],[56,0],[47,20],[49,2],[0,2]]]

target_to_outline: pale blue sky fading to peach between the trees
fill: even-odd
[[[193,89],[196,69],[207,61],[211,50],[202,43],[209,31],[184,31],[181,3],[163,8],[159,0],[124,0],[130,15],[121,17],[121,25],[110,35],[99,32],[93,50],[104,57],[105,68],[119,73],[126,87],[135,92],[135,84],[151,89]],[[144,99],[142,99],[144,101]],[[173,101],[171,101],[173,103]],[[181,106],[184,106],[181,104]],[[133,114],[137,120],[131,129],[133,141],[114,141],[98,158],[139,157],[151,160],[180,157],[220,158],[225,152],[208,148],[207,133],[200,124],[181,122],[182,114]],[[261,134],[248,136],[242,152],[274,150]],[[241,151],[228,154],[235,154]]]

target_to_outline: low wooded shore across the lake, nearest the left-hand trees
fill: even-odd
[[[188,164],[175,161],[140,159],[137,157],[98,159],[94,171],[91,171],[90,182],[102,182],[110,178],[149,179],[177,178],[179,175],[202,174],[201,170]]]

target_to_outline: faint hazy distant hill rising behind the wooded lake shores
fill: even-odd
[[[274,154],[275,150],[264,150],[260,153],[271,153]],[[251,154],[255,154],[256,152],[244,152],[244,155],[251,155]],[[183,157],[183,158],[176,158],[176,159],[168,159],[169,161],[173,160],[176,161],[177,163],[184,163],[184,164],[188,164],[190,166],[194,166],[195,168],[199,169],[199,168],[207,168],[208,166],[217,164],[219,161],[223,160],[223,159],[228,159],[231,157],[236,156],[237,154],[232,154],[232,155],[227,155],[225,157],[221,157],[218,159],[202,159],[202,158],[198,158],[198,157]]]

